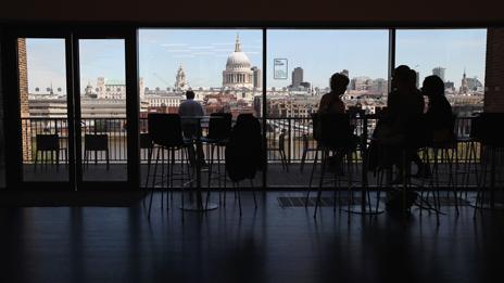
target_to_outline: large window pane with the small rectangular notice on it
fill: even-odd
[[[346,110],[385,105],[388,48],[388,30],[267,30],[268,185],[308,184],[316,153],[311,114],[332,74],[350,79]]]

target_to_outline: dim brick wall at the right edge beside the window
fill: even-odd
[[[489,28],[484,111],[504,112],[504,28]]]

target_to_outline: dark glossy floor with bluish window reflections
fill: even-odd
[[[228,192],[204,214],[175,193],[130,207],[0,207],[0,282],[504,282],[504,216],[470,206],[407,218],[282,208]],[[186,198],[187,200],[187,198]],[[218,202],[217,194],[213,200]],[[148,204],[148,203],[146,203]],[[349,222],[350,219],[350,222]],[[398,281],[399,280],[399,281]]]

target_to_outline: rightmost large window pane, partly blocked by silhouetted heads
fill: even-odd
[[[399,29],[396,65],[417,72],[417,86],[430,75],[444,81],[458,116],[482,111],[487,29]]]

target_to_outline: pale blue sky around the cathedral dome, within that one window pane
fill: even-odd
[[[262,68],[263,36],[257,29],[142,29],[139,33],[140,76],[152,88],[174,87],[181,65],[192,88],[220,87],[237,35],[251,65]]]

